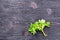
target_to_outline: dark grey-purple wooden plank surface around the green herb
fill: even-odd
[[[29,24],[42,18],[48,36],[31,35]],[[60,40],[60,0],[0,0],[0,40]]]

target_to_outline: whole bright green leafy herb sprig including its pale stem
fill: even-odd
[[[35,35],[37,33],[36,30],[39,30],[44,36],[47,36],[47,34],[44,32],[45,27],[50,27],[50,22],[46,22],[44,19],[41,19],[30,24],[29,32]]]

